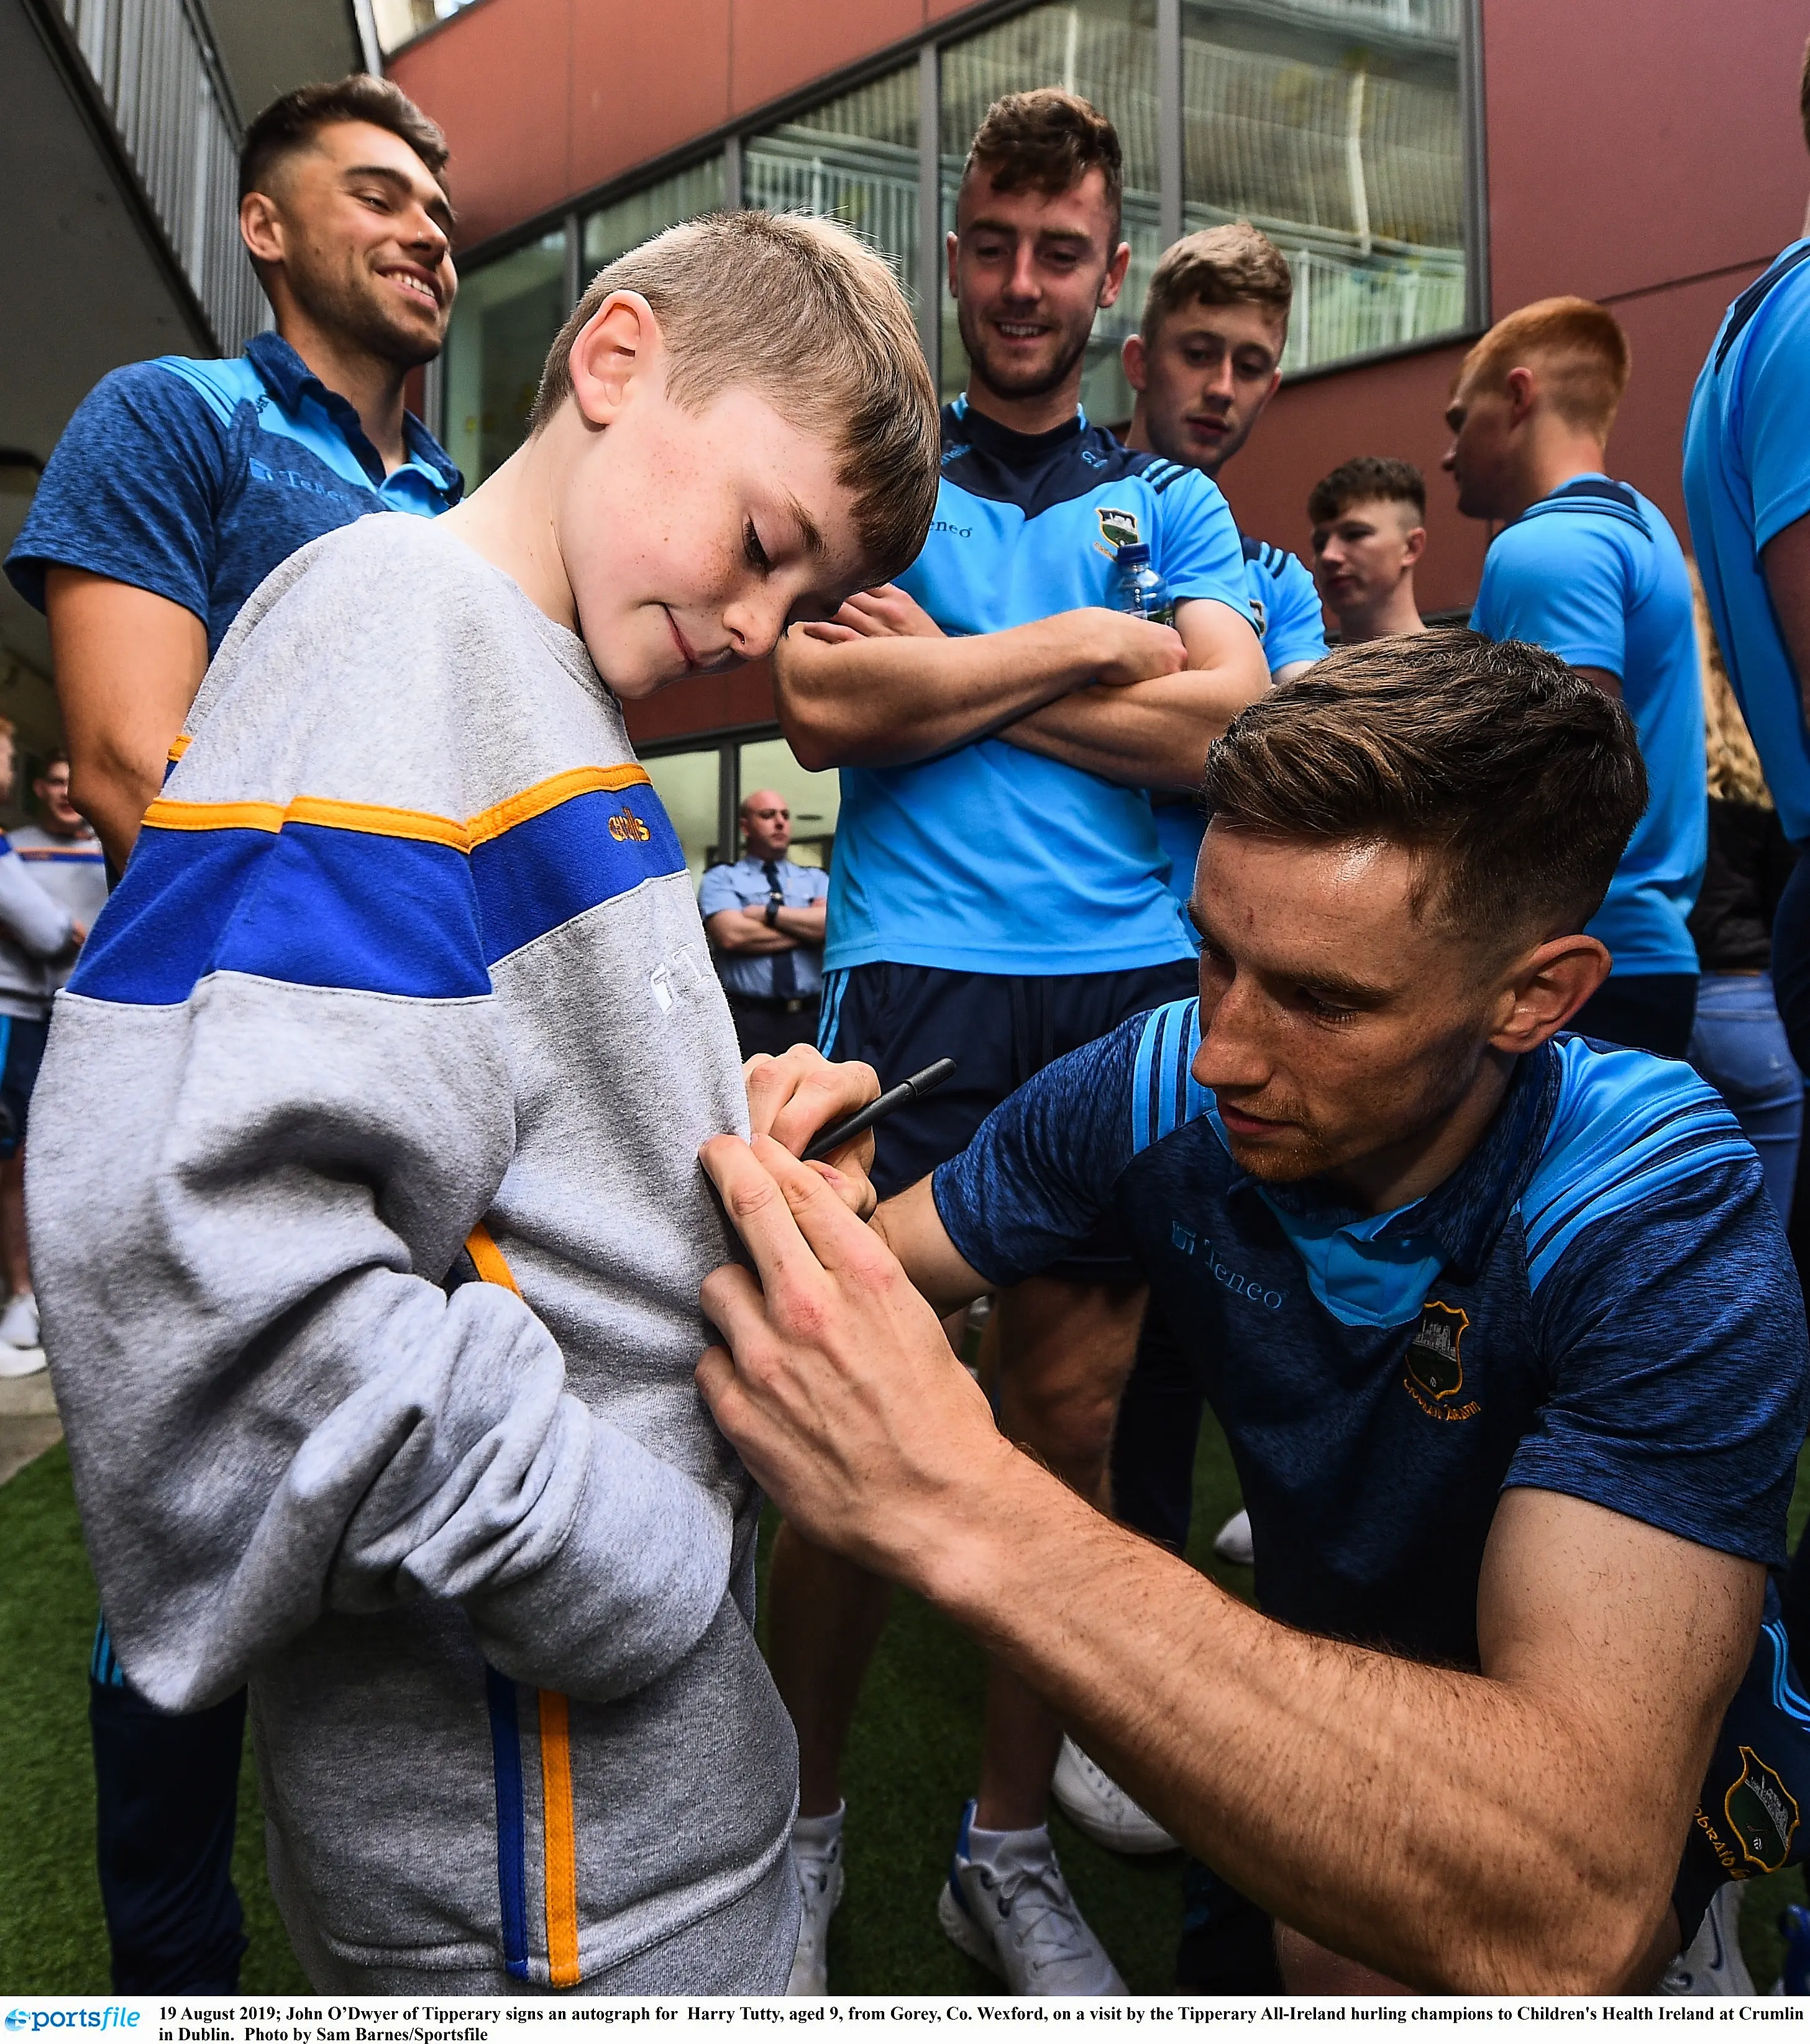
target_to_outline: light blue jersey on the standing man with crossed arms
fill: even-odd
[[[1111,605],[1115,558],[1149,546],[1172,595],[1254,621],[1213,482],[1121,448],[1078,413],[1012,433],[957,399],[922,554],[900,585],[951,634]],[[1205,764],[1205,760],[1203,760]],[[1108,973],[1188,957],[1149,797],[984,738],[916,766],[845,766],[824,969]]]

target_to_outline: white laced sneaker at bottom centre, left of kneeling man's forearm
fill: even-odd
[[[969,1856],[974,1803],[961,1813],[955,1858],[937,1897],[951,1944],[1000,1975],[1014,1995],[1123,1995],[1119,1968],[1068,1893],[1049,1831],[1006,1831],[982,1860]]]

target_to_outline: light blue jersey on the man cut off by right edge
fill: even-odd
[[[1691,394],[1685,511],[1710,617],[1785,834],[1810,838],[1810,732],[1759,556],[1810,511],[1810,241],[1728,307]]]

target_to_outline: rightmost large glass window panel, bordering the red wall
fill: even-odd
[[[1288,370],[1464,323],[1458,0],[1186,0],[1188,229],[1295,272]]]

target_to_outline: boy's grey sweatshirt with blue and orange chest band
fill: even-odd
[[[166,1709],[250,1678],[331,1952],[577,1981],[796,1797],[691,1380],[746,1108],[685,858],[583,644],[425,519],[286,560],[188,730],[33,1110],[108,1629]]]

